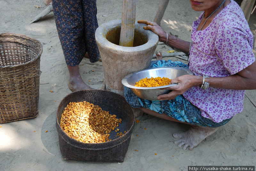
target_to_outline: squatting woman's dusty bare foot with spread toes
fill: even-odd
[[[189,150],[193,150],[201,141],[203,141],[209,135],[212,135],[219,128],[212,127],[202,127],[192,125],[188,131],[182,133],[174,133],[172,136],[174,138],[179,138],[174,143],[178,144],[178,147],[182,147],[186,150],[188,147]]]

